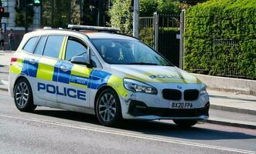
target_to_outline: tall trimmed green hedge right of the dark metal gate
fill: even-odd
[[[256,79],[254,0],[210,0],[186,10],[184,69]]]

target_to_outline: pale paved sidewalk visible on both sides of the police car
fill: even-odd
[[[0,51],[0,90],[7,91],[12,52]],[[210,94],[210,119],[225,126],[256,129],[256,96],[207,90]]]

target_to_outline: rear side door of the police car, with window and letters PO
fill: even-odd
[[[63,35],[42,36],[36,45],[34,57],[38,59],[36,78],[32,80],[36,95],[40,99],[56,102],[56,95],[61,89],[57,89],[58,69],[60,53],[65,42]]]

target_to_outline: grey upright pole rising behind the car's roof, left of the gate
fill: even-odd
[[[138,5],[139,0],[134,0],[134,9],[133,9],[133,36],[135,38],[138,38],[138,18],[139,18],[139,12],[138,12]]]

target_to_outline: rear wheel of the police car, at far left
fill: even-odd
[[[33,103],[32,89],[28,80],[19,79],[14,88],[14,102],[21,112],[32,112],[36,109]]]

